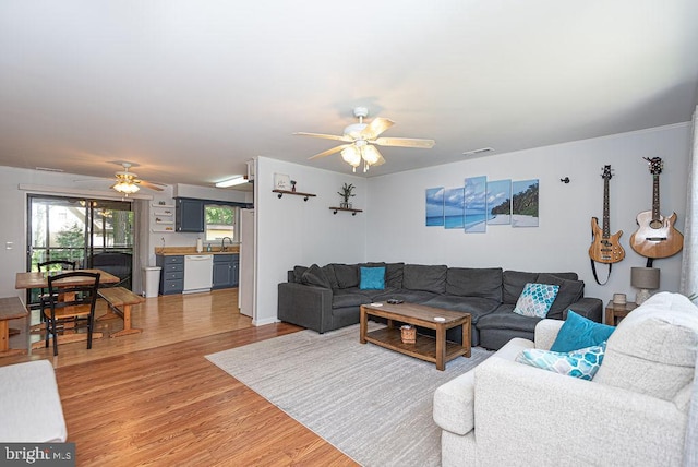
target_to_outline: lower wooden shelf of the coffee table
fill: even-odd
[[[417,334],[414,344],[404,344],[398,327],[384,327],[366,333],[366,342],[385,347],[420,360],[436,363],[436,339]],[[457,343],[446,340],[446,356],[444,363],[454,358],[469,354],[469,349]]]

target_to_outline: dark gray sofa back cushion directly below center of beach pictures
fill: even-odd
[[[446,294],[502,301],[502,268],[449,267]]]

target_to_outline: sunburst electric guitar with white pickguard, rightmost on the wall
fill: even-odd
[[[652,173],[652,211],[643,211],[636,217],[638,229],[630,236],[630,247],[638,254],[651,259],[667,258],[678,253],[684,248],[684,236],[674,228],[676,213],[664,217],[659,213],[659,175],[662,172],[664,163],[660,157],[648,161],[650,173]],[[649,266],[648,266],[649,267]]]

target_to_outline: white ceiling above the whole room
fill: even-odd
[[[396,124],[369,176],[690,120],[696,0],[2,0],[0,165],[210,185],[264,156],[350,172],[352,108]]]

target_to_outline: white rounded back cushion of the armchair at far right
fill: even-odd
[[[611,334],[593,381],[674,402],[685,410],[676,399],[693,384],[697,348],[698,307],[679,294],[657,294]]]

